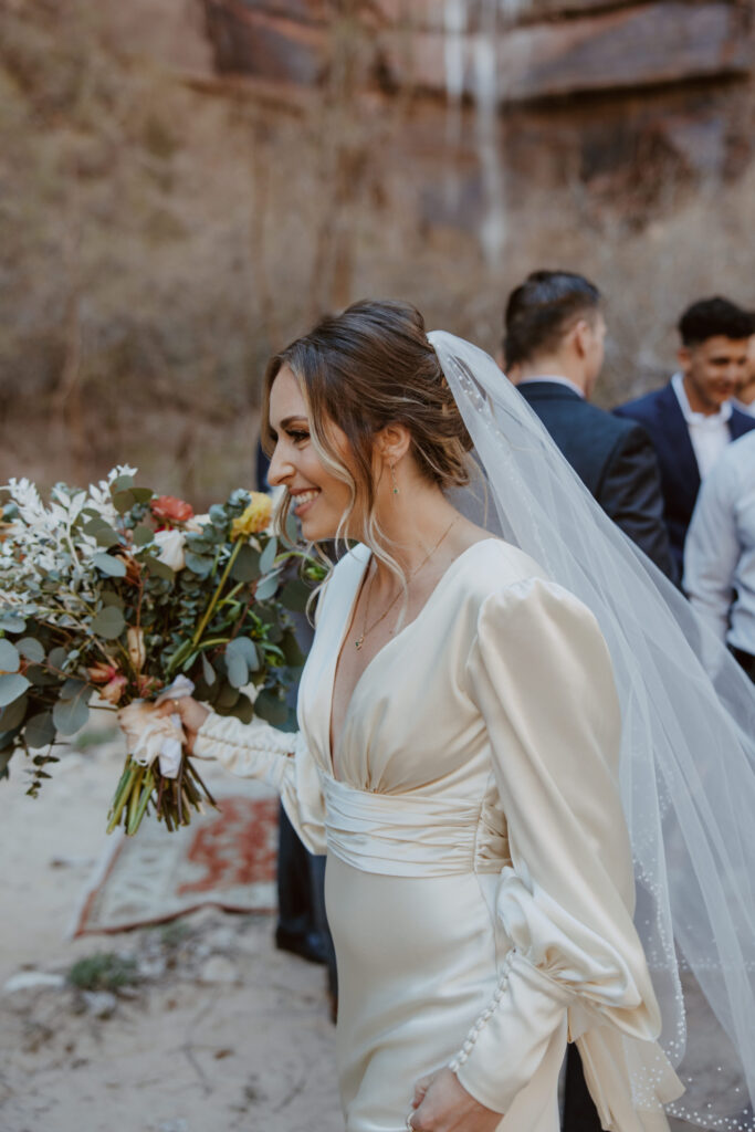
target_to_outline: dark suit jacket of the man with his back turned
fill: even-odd
[[[606,514],[676,582],[658,461],[644,429],[558,381],[525,381],[518,391]]]

